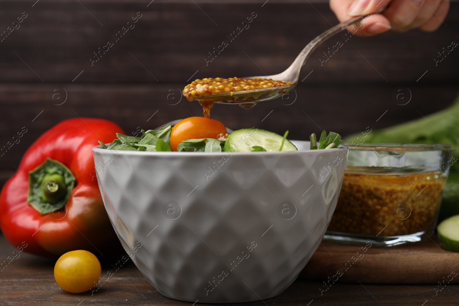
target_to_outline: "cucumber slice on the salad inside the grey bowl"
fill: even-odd
[[[225,151],[252,152],[254,146],[263,147],[267,151],[279,151],[283,137],[279,134],[260,128],[243,128],[229,134],[226,139]],[[282,151],[296,151],[295,145],[285,139]]]

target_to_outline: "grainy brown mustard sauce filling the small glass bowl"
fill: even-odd
[[[445,184],[441,173],[346,172],[328,230],[379,236],[429,233]]]

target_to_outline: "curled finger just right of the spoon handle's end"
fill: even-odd
[[[382,14],[391,22],[393,30],[407,28],[419,14],[422,0],[394,0]]]

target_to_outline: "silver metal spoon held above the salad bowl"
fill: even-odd
[[[382,8],[376,13],[380,13],[384,11],[385,8]],[[198,100],[200,102],[209,103],[215,102],[219,104],[235,104],[239,105],[244,108],[251,108],[258,102],[274,100],[279,98],[282,95],[285,95],[290,90],[292,90],[298,84],[298,78],[300,76],[300,71],[303,65],[306,63],[306,60],[309,56],[313,53],[313,51],[322,44],[325,40],[329,39],[331,36],[335,35],[336,33],[341,32],[351,24],[359,22],[364,18],[370,16],[371,14],[367,14],[364,16],[357,16],[353,17],[345,22],[341,22],[337,24],[333,28],[325,31],[324,33],[320,34],[311,42],[304,47],[304,49],[298,54],[297,58],[290,67],[287,68],[284,72],[274,75],[267,75],[267,76],[256,76],[256,77],[249,77],[250,78],[271,78],[273,80],[281,80],[284,82],[292,82],[288,85],[280,86],[280,87],[271,87],[266,89],[252,89],[252,90],[245,90],[245,91],[236,91],[236,92],[229,92],[224,94],[216,94],[216,95],[205,95],[199,97]]]

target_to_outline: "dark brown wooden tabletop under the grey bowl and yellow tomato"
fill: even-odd
[[[0,236],[0,259],[15,249]],[[15,253],[16,254],[16,253]],[[0,305],[190,305],[169,299],[149,284],[134,263],[128,261],[101,289],[71,294],[57,286],[53,277],[54,260],[25,252],[0,270]],[[102,264],[102,272],[112,269]],[[372,273],[369,271],[369,273]],[[102,273],[103,274],[103,273]],[[435,295],[436,284],[333,284],[323,295],[320,282],[297,279],[274,298],[239,305],[458,305],[459,285],[448,284]],[[310,304],[308,304],[310,303]],[[197,303],[199,304],[199,302]],[[207,304],[209,305],[209,304]],[[233,304],[231,304],[233,305]],[[234,304],[237,305],[237,304]]]

